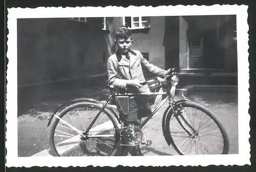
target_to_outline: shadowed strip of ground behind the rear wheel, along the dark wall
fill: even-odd
[[[30,115],[44,119],[65,102],[84,97],[101,101],[108,95],[109,89],[104,84],[88,86],[80,82],[18,88],[18,117]]]

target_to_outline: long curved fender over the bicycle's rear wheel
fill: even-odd
[[[48,124],[47,124],[47,127],[49,127],[51,125],[51,122],[52,122],[52,119],[54,117],[54,115],[63,107],[67,106],[67,105],[72,105],[74,103],[79,103],[79,102],[92,102],[92,103],[98,103],[98,104],[101,104],[101,105],[104,105],[104,103],[100,102],[100,101],[97,101],[95,99],[89,99],[89,98],[82,98],[82,99],[75,99],[75,100],[72,100],[72,101],[69,101],[65,104],[62,104],[61,106],[59,106],[54,112],[53,114],[48,118]],[[110,110],[117,119],[119,119],[119,117],[117,116],[117,114],[115,113],[115,111],[110,108],[108,105],[105,106],[105,108],[107,108],[108,110]]]

